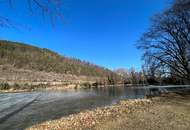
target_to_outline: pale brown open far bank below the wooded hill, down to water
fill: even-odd
[[[0,65],[0,93],[36,90],[68,90],[109,85],[107,76],[46,72]],[[120,83],[120,82],[119,82]],[[122,83],[122,82],[121,82]]]

